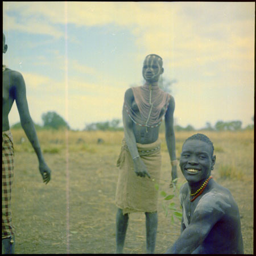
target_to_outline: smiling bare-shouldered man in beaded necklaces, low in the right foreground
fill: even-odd
[[[167,254],[243,254],[240,214],[228,189],[211,176],[214,147],[204,134],[183,144],[180,168],[181,234]]]

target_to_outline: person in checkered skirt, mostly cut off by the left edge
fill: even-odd
[[[5,34],[3,34],[3,53],[6,53],[6,51],[7,44],[5,44]],[[15,238],[11,220],[14,147],[8,118],[14,101],[16,101],[22,128],[38,156],[39,171],[43,177],[43,182],[46,184],[51,179],[51,170],[43,158],[34,123],[30,117],[23,76],[19,72],[7,68],[5,65],[3,65],[2,100],[2,254],[14,254]]]

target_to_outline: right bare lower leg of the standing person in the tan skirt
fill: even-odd
[[[153,254],[155,252],[156,231],[158,229],[158,213],[145,212],[145,214],[147,253]]]

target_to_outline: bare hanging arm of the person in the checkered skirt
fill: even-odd
[[[34,127],[34,123],[31,119],[27,97],[26,97],[26,85],[23,79],[23,76],[19,72],[14,72],[13,74],[13,84],[15,88],[15,101],[19,112],[20,123],[24,132],[27,135],[28,140],[30,141],[32,147],[36,152],[36,156],[38,157],[39,162],[39,171],[43,177],[43,182],[48,183],[51,179],[51,170],[47,166],[43,154],[40,148],[40,144],[38,141],[38,137],[36,135],[36,130]]]

